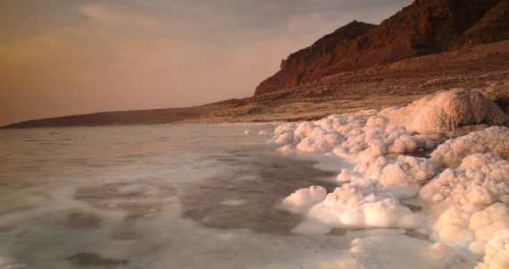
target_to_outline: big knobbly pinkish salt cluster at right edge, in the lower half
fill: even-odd
[[[509,161],[492,153],[463,159],[420,191],[439,214],[432,230],[438,240],[482,255],[496,231],[509,228]]]

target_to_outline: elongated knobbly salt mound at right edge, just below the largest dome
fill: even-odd
[[[457,139],[446,140],[431,153],[431,160],[438,167],[455,167],[466,156],[486,152],[495,153],[505,160],[509,159],[509,128],[493,126]]]

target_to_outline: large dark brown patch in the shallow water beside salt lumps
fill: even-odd
[[[330,191],[338,187],[319,180],[335,173],[318,170],[310,161],[268,154],[259,146],[234,149],[228,154],[232,157],[219,159],[221,163],[240,165],[243,171],[189,184],[180,197],[184,217],[206,227],[289,235],[302,219],[278,208],[281,198],[313,185]]]

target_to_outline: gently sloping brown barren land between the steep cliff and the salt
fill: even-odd
[[[0,129],[227,122],[301,122],[405,106],[440,90],[471,88],[509,114],[509,41],[409,58],[263,95],[192,107],[71,115]]]

